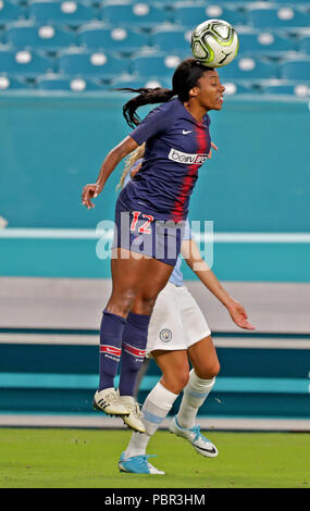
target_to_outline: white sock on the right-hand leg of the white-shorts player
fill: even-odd
[[[214,383],[215,377],[201,379],[195,374],[194,369],[190,371],[189,382],[183,391],[183,399],[177,414],[177,422],[181,427],[190,428],[195,426],[197,412],[209,396]]]

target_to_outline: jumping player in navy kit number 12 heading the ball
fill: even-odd
[[[170,89],[139,92],[123,109],[135,127],[104,159],[97,182],[83,189],[83,204],[94,208],[120,161],[146,142],[137,178],[120,194],[115,208],[115,245],[111,259],[112,294],[100,326],[99,388],[94,406],[140,432],[144,424],[134,399],[145,357],[150,316],[181,250],[184,221],[198,170],[208,158],[210,110],[221,110],[224,87],[219,74],[195,59],[175,70]],[[136,111],[164,103],[140,122]],[[139,257],[138,257],[139,256]],[[122,354],[119,394],[114,377]]]

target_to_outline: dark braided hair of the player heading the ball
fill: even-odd
[[[145,104],[165,103],[174,96],[177,96],[183,103],[189,99],[189,90],[196,86],[198,79],[206,71],[213,71],[211,67],[202,65],[196,59],[186,59],[176,67],[172,78],[172,89],[162,87],[133,89],[121,88],[128,92],[138,92],[138,96],[127,101],[123,107],[123,114],[131,127],[136,127],[140,123],[137,109]]]

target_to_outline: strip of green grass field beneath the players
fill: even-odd
[[[1,488],[310,488],[310,435],[210,433],[219,457],[160,431],[148,453],[166,475],[120,473],[127,431],[0,429]]]

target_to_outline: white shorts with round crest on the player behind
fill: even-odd
[[[204,316],[186,286],[168,283],[151,315],[147,357],[153,350],[187,350],[211,335]]]

